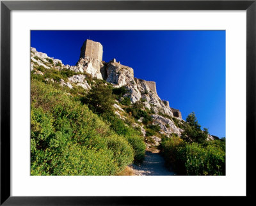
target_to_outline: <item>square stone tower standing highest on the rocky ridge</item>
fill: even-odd
[[[85,56],[91,57],[92,59],[98,59],[102,61],[103,47],[101,43],[92,40],[86,40],[81,47],[80,58]]]

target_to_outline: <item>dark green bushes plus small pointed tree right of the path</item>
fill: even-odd
[[[206,141],[195,113],[184,122],[181,138],[162,138],[161,152],[166,163],[179,175],[225,175],[225,139]]]

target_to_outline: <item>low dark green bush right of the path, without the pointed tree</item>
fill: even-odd
[[[179,175],[225,175],[225,146],[219,142],[202,145],[164,138],[161,151]]]

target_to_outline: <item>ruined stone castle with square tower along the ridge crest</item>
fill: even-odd
[[[179,110],[170,108],[169,102],[159,99],[156,91],[156,82],[146,81],[134,78],[134,71],[129,66],[120,64],[120,61],[112,59],[109,63],[102,61],[103,47],[101,43],[93,40],[86,40],[81,47],[80,59],[77,67],[90,73],[92,77],[104,79],[113,84],[114,87],[125,86],[131,93],[131,101],[135,103],[139,101],[147,92],[154,94],[151,100],[148,99],[148,105],[158,105],[159,108],[166,108],[167,114],[182,119]],[[147,91],[147,92],[146,92]],[[159,100],[157,100],[159,99]],[[157,103],[157,101],[160,101]],[[150,107],[150,106],[148,106]],[[168,112],[170,111],[170,112]]]

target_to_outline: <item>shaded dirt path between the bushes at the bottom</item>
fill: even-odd
[[[132,165],[134,175],[175,175],[164,166],[164,159],[159,151],[146,151],[145,160],[141,165]]]

